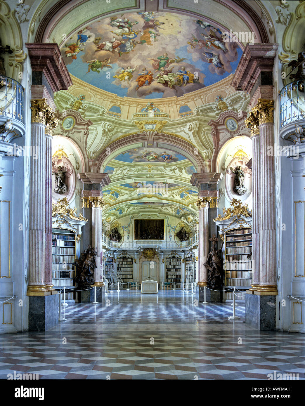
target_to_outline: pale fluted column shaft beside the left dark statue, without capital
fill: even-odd
[[[92,207],[92,246],[96,247],[96,268],[94,271],[94,285],[102,285],[102,209],[100,207]]]

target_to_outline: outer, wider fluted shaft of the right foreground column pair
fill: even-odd
[[[276,225],[275,225],[275,163],[268,155],[274,145],[273,123],[263,123],[260,129],[260,285],[259,290],[276,290]],[[275,288],[274,288],[275,287]]]

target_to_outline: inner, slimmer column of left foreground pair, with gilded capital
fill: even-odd
[[[52,131],[57,123],[52,110],[47,111],[45,127],[45,286],[54,292],[52,284]]]

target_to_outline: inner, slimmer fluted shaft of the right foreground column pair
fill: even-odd
[[[252,288],[260,284],[260,136],[252,137]]]

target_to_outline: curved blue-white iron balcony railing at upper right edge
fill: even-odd
[[[280,127],[305,118],[304,80],[287,84],[279,92]]]

